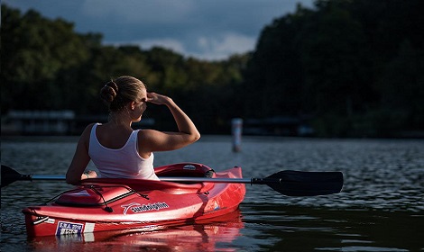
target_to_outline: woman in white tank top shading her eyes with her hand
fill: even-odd
[[[92,123],[82,133],[66,174],[69,184],[97,176],[94,171],[84,173],[90,160],[101,177],[159,180],[153,170],[153,151],[182,148],[200,138],[193,121],[170,97],[147,93],[143,82],[133,76],[106,83],[100,95],[109,108],[109,121]],[[147,103],[166,105],[179,131],[133,130],[131,124],[141,121]]]

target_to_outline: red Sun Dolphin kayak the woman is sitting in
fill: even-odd
[[[192,163],[160,166],[155,172],[165,177],[242,177],[240,167],[215,173]],[[29,237],[82,235],[217,218],[235,211],[244,194],[244,184],[235,183],[91,178],[54,202],[27,207],[23,213]]]

